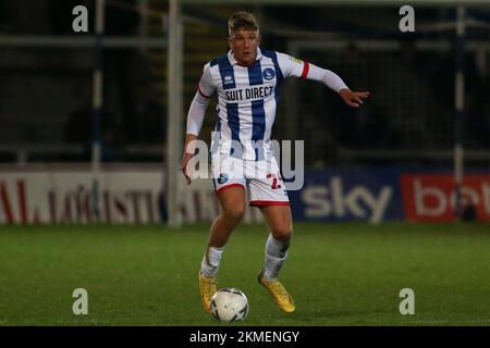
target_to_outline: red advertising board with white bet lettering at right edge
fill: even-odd
[[[411,221],[454,220],[451,174],[404,174],[401,178],[405,216]],[[462,195],[477,208],[477,219],[490,221],[490,175],[466,174]]]

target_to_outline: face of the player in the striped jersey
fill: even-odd
[[[257,47],[260,44],[260,35],[257,32],[240,29],[233,32],[228,41],[240,65],[254,64],[257,58]]]

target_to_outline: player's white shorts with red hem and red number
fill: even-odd
[[[211,156],[215,191],[248,188],[250,206],[289,206],[290,199],[274,157],[264,161],[242,160],[225,154]]]

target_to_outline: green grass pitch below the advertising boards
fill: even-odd
[[[208,224],[1,226],[0,325],[489,325],[490,228],[483,224],[296,223],[281,279],[282,313],[257,284],[265,225],[240,225],[219,287],[249,300],[245,322],[220,323],[199,301]],[[88,314],[74,315],[75,288]],[[399,312],[402,288],[415,314]]]

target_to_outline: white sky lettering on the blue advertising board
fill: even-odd
[[[308,219],[354,216],[379,223],[383,220],[393,190],[381,186],[378,191],[365,185],[345,190],[342,178],[332,176],[327,185],[309,185],[302,190],[304,215]]]

